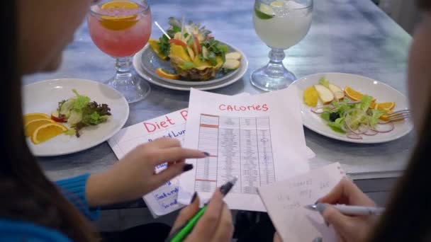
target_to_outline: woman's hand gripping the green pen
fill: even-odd
[[[199,211],[199,198],[197,195],[194,195],[194,198],[194,201],[179,213],[174,226],[172,226],[171,234]],[[184,241],[225,242],[231,241],[232,236],[232,214],[228,205],[223,202],[220,190],[217,189],[201,219]]]

